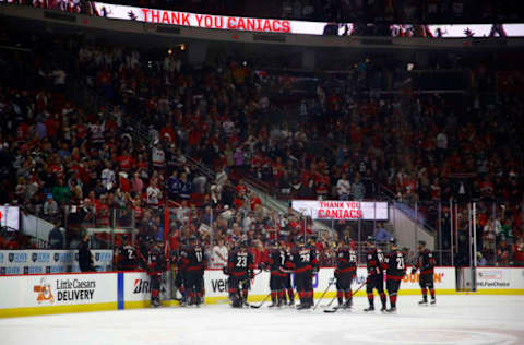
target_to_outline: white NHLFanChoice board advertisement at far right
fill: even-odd
[[[477,290],[524,289],[524,269],[477,267]]]

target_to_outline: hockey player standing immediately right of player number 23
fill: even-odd
[[[270,289],[271,289],[271,306],[273,307],[282,307],[286,304],[286,251],[282,248],[278,248],[276,242],[270,243],[270,253],[266,258],[264,264],[271,271],[270,276]]]

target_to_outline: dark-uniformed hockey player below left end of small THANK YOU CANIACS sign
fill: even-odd
[[[318,272],[317,252],[313,247],[306,246],[303,237],[299,237],[297,248],[293,252],[293,261],[288,267],[295,270],[295,284],[297,286],[300,305],[297,309],[309,309],[313,306],[313,282]]]

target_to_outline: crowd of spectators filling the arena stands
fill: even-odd
[[[47,69],[33,56],[3,56],[34,84],[2,82],[1,157],[3,202],[67,226],[68,239],[92,226],[135,227],[141,238],[168,237],[171,250],[200,234],[214,252],[215,242],[240,237],[263,248],[313,233],[310,219],[263,207],[243,178],[287,200],[377,199],[385,186],[397,200],[419,202],[428,218],[450,198],[504,200],[508,211],[495,217],[511,227],[510,243],[523,235],[522,99],[481,97],[496,69],[467,66],[473,81],[457,102],[418,93],[406,71],[369,59],[300,88],[303,78],[247,62],[196,68],[172,51],[150,60],[128,48],[62,46],[74,53]],[[72,74],[104,106],[72,102],[64,91]],[[481,226],[480,238],[489,237]],[[350,225],[336,229],[317,246],[332,248],[342,231],[356,238]],[[489,241],[479,248],[495,260]]]

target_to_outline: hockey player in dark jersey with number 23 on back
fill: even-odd
[[[229,299],[231,307],[241,308],[248,305],[249,281],[254,277],[253,255],[248,252],[245,241],[240,242],[238,250],[234,250],[227,258],[227,269],[224,273],[229,275]],[[241,296],[240,296],[241,289]]]

